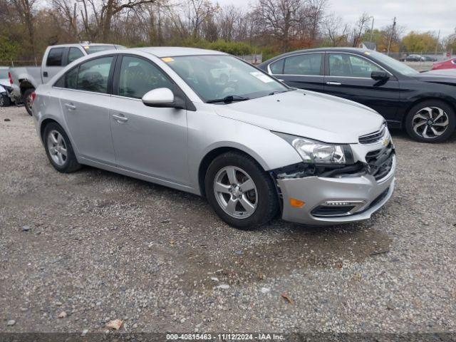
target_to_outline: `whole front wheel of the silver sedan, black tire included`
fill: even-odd
[[[227,152],[209,165],[204,180],[214,212],[238,229],[266,224],[279,209],[272,178],[248,155]]]

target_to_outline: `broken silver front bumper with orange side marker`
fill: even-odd
[[[283,202],[282,219],[311,225],[369,219],[393,194],[396,157],[392,145],[388,153],[381,175],[368,161],[345,167],[345,174],[338,170],[312,176],[304,175],[305,172],[273,172]],[[385,164],[385,160],[381,161]],[[296,205],[296,199],[302,205]]]

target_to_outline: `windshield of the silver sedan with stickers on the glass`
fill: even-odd
[[[232,56],[162,58],[205,102],[248,100],[290,88]],[[220,101],[224,103],[223,101]]]

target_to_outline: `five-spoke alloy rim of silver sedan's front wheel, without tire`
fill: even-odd
[[[244,219],[257,209],[257,187],[247,172],[239,167],[223,167],[214,177],[214,195],[229,216]]]

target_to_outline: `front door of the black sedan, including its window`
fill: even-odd
[[[399,82],[388,71],[388,80],[375,81],[372,71],[385,69],[353,53],[326,53],[324,91],[367,105],[387,120],[394,120],[400,105]]]

